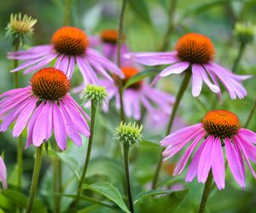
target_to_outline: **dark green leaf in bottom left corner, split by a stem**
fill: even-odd
[[[26,208],[27,199],[22,193],[10,189],[2,190],[2,195],[12,202],[17,204],[19,207]],[[34,213],[47,213],[47,209],[44,203],[39,199],[34,200],[32,212]]]

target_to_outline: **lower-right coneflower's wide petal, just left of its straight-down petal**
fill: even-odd
[[[198,163],[198,182],[206,183],[213,162],[213,149],[214,136],[208,136]]]

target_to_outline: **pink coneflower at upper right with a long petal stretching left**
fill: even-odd
[[[204,81],[214,93],[218,93],[221,99],[218,80],[228,90],[231,99],[245,97],[247,93],[242,86],[242,81],[250,76],[235,75],[230,70],[214,63],[214,52],[214,45],[209,37],[201,34],[186,34],[179,38],[174,52],[126,53],[125,57],[134,59],[142,65],[171,64],[162,70],[154,82],[170,74],[180,74],[186,70],[192,72],[192,94],[194,97],[198,97],[201,93],[202,81]]]

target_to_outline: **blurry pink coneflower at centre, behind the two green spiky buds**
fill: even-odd
[[[123,66],[121,69],[126,76],[123,80],[124,85],[130,77],[138,73],[138,69],[134,68],[134,66]],[[102,85],[106,87],[108,92],[106,101],[109,102],[115,97],[116,106],[120,108],[118,86],[106,80],[102,81]],[[123,104],[124,112],[128,117],[134,117],[135,120],[139,120],[142,112],[141,105],[143,105],[146,111],[150,113],[150,116],[157,120],[159,118],[158,109],[161,109],[167,115],[170,114],[171,105],[174,104],[174,97],[158,89],[151,88],[145,81],[138,81],[123,91]],[[107,110],[106,105],[105,108],[103,105],[103,109]]]

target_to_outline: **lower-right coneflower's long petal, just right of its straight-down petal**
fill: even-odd
[[[234,179],[241,187],[246,187],[245,176],[242,174],[241,164],[239,164],[238,153],[229,138],[225,138],[226,158],[230,166]]]

